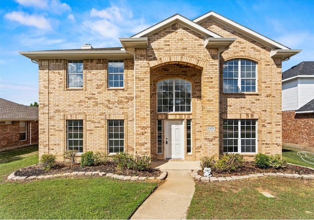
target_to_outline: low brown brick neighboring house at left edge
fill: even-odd
[[[38,107],[0,98],[0,151],[38,144]]]

